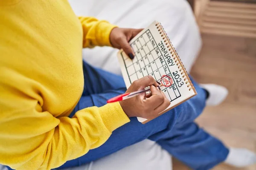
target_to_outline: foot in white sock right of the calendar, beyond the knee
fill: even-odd
[[[226,99],[228,90],[221,85],[215,84],[200,84],[202,88],[209,92],[209,97],[206,100],[206,105],[216,106]]]

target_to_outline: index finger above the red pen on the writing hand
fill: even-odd
[[[132,83],[132,90],[143,90],[144,88],[154,85],[157,87],[159,84],[152,76],[145,76],[143,78],[137,79]]]

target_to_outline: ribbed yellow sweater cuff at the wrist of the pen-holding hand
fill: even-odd
[[[130,122],[130,119],[122,110],[119,102],[108,103],[99,108],[100,115],[105,126],[110,132]]]

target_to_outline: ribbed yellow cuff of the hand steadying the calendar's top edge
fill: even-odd
[[[113,28],[116,28],[118,26],[112,25],[108,23],[107,21],[102,21],[100,24],[101,34],[99,38],[100,46],[112,46],[110,42],[110,33]]]

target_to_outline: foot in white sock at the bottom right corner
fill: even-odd
[[[226,164],[234,167],[247,167],[256,164],[256,154],[245,148],[230,148]]]

